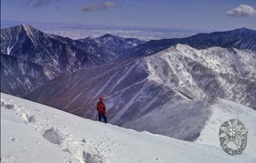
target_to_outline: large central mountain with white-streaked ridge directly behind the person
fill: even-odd
[[[95,104],[105,96],[111,124],[193,141],[212,114],[207,99],[255,110],[255,56],[250,50],[177,45],[58,78],[26,98],[95,120]]]

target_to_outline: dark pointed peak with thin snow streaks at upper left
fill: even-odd
[[[1,30],[1,52],[47,67],[52,76],[95,64],[95,57],[29,25]]]

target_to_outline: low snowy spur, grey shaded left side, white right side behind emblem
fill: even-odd
[[[219,127],[226,120],[238,118],[248,129],[248,145],[244,153],[256,158],[256,111],[220,98],[169,104],[152,111],[125,127],[137,131],[169,134],[172,138],[196,138],[196,143],[220,147]],[[147,125],[145,125],[147,124]],[[196,132],[198,131],[198,132]],[[199,135],[196,135],[198,134]]]

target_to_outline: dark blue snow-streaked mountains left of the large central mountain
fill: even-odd
[[[106,34],[100,38],[72,40],[46,34],[30,25],[18,25],[1,29],[1,91],[15,96],[23,96],[46,81],[93,66],[115,60],[118,53],[126,48],[145,43],[133,38],[120,38]],[[2,60],[3,58],[3,60]],[[10,60],[15,68],[10,69]],[[7,62],[6,60],[9,60]],[[22,62],[22,65],[19,63]],[[7,64],[6,64],[7,63]],[[40,76],[22,71],[38,71]],[[12,87],[6,79],[12,78]],[[15,79],[16,78],[16,79]],[[38,81],[36,80],[38,79]],[[2,78],[1,78],[2,79]],[[44,80],[41,80],[44,79]],[[6,87],[8,85],[8,87]]]

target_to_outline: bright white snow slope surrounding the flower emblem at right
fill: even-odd
[[[248,144],[244,153],[256,158],[256,111],[241,104],[219,98],[211,101],[211,109],[212,115],[195,142],[220,146],[219,138],[214,136],[218,133],[218,127],[226,120],[238,118],[248,129]]]

